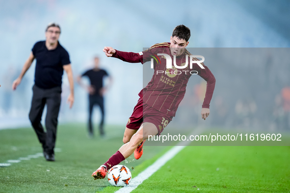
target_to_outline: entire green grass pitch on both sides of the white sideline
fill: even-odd
[[[0,193],[113,193],[119,188],[91,174],[122,145],[123,132],[107,126],[107,138],[88,139],[84,124],[61,125],[56,161],[39,157],[0,168]],[[168,149],[145,146],[140,160],[122,164],[134,178]],[[32,128],[0,130],[0,163],[41,151]],[[288,193],[289,163],[289,146],[187,146],[132,193]]]

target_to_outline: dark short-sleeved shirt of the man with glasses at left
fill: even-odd
[[[35,43],[32,53],[36,59],[35,85],[43,89],[61,86],[63,65],[71,63],[65,48],[58,42],[55,49],[48,50],[45,41],[40,41]]]

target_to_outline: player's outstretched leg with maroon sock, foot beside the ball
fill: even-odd
[[[132,136],[130,142],[124,144],[120,147],[120,149],[112,155],[104,165],[102,165],[99,169],[97,169],[92,176],[95,179],[105,178],[106,171],[111,167],[120,164],[126,158],[128,158],[136,147],[143,141],[148,139],[149,135],[157,135],[158,129],[155,124],[150,122],[144,122],[141,124],[140,129]]]

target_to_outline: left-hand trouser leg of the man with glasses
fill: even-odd
[[[39,142],[42,144],[43,151],[46,150],[46,132],[41,125],[41,117],[45,106],[46,99],[43,97],[43,90],[36,87],[32,88],[33,96],[31,101],[31,108],[29,112],[29,120],[38,137]]]

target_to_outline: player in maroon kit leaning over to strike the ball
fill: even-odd
[[[156,44],[139,53],[118,51],[111,47],[105,47],[103,51],[107,57],[115,57],[131,63],[141,62],[142,64],[150,61],[153,58],[152,56],[156,58],[157,53],[167,54],[172,58],[172,62],[175,61],[177,66],[183,68],[181,66],[185,66],[186,60],[187,64],[189,63],[189,55],[191,55],[185,49],[189,43],[189,38],[190,29],[185,25],[178,25],[173,30],[170,43]],[[197,61],[196,58],[193,58],[193,60]],[[197,72],[199,76],[207,81],[201,116],[202,119],[206,120],[210,115],[209,107],[215,78],[209,68],[203,63],[203,68],[194,63],[192,69],[189,69],[190,65],[188,64],[186,68],[181,70],[183,72],[179,73],[176,70],[180,69],[167,69],[166,62],[166,58],[160,56],[154,62],[153,77],[138,94],[140,98],[127,123],[123,138],[124,145],[92,174],[95,179],[105,178],[108,169],[128,158],[133,152],[136,159],[141,157],[144,140],[148,139],[149,135],[160,135],[175,116],[178,105],[185,95],[186,84],[191,76],[190,72]]]

